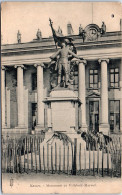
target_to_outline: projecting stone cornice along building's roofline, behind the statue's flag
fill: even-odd
[[[92,48],[104,48],[104,47],[121,47],[122,45],[122,36],[119,37],[100,37],[97,41],[88,41],[84,42],[80,37],[76,37],[73,41],[77,50],[86,50]],[[50,53],[55,52],[55,44],[53,39],[49,41],[42,42],[30,42],[22,44],[11,44],[1,46],[1,55],[2,56],[11,56],[11,55],[27,55],[32,53]]]

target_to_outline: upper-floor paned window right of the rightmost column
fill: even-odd
[[[110,87],[119,87],[119,68],[110,69]]]

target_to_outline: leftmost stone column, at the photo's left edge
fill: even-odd
[[[6,98],[6,95],[5,95],[5,67],[2,66],[1,67],[1,92],[2,92],[2,128],[5,128],[6,126],[6,122],[5,122],[5,98]]]

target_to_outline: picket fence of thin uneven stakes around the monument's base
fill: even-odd
[[[41,137],[25,137],[2,142],[2,172],[67,175],[98,175],[121,177],[120,139],[112,140],[105,147],[87,143],[87,149],[74,139],[74,143],[43,144]]]

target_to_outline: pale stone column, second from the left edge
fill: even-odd
[[[24,88],[23,88],[23,69],[24,65],[16,65],[17,68],[17,106],[18,106],[18,127],[24,128]]]

